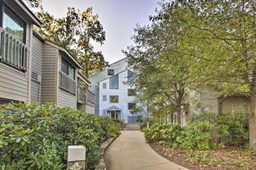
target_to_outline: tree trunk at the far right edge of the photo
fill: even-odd
[[[251,110],[249,115],[250,146],[256,150],[256,64],[251,84]]]

